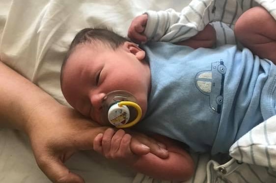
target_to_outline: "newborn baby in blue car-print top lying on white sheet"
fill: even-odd
[[[255,45],[248,43],[258,42],[259,32],[245,22],[256,14],[255,24],[266,22],[276,32],[276,22],[265,9],[251,8],[242,15],[235,35],[253,54]],[[157,42],[140,47],[105,29],[87,28],[77,34],[61,74],[68,103],[99,124],[109,125],[100,115],[107,93],[132,93],[142,110],[142,120],[134,128],[162,135],[157,138],[170,155],[163,160],[150,153],[131,154],[123,130],[97,136],[94,150],[147,175],[183,181],[192,176],[193,161],[174,140],[196,152],[227,153],[239,137],[275,115],[276,66],[271,62],[276,62],[275,53],[264,51],[267,55],[262,57],[270,61],[254,56],[248,48],[198,48],[212,46],[200,43],[205,35],[215,35],[212,30],[207,26],[178,45]],[[275,46],[276,35],[271,37],[266,30],[263,27],[263,35]],[[244,39],[245,34],[251,39]],[[212,36],[210,40],[214,43]]]

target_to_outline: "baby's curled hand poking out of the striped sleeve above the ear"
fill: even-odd
[[[147,38],[144,35],[144,30],[145,30],[147,20],[148,20],[147,14],[139,15],[133,19],[128,29],[128,37],[131,39],[131,41],[137,44],[147,41]]]

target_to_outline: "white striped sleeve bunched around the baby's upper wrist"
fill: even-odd
[[[203,16],[206,7],[197,11],[197,6],[186,6],[181,12],[174,9],[165,11],[147,11],[148,21],[144,34],[149,41],[163,41],[176,43],[189,39],[203,30],[210,19]]]

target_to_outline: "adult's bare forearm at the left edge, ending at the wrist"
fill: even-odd
[[[0,126],[26,131],[30,114],[44,102],[57,103],[0,61]]]

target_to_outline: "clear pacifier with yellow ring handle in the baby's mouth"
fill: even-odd
[[[130,93],[117,90],[108,93],[103,100],[102,120],[116,128],[128,128],[142,117],[142,110],[137,99]]]

